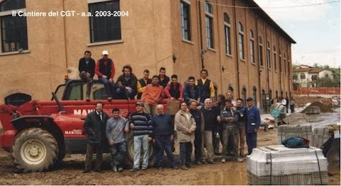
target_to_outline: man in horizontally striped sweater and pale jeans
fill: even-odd
[[[151,141],[153,133],[151,117],[144,113],[144,103],[137,102],[135,106],[136,112],[131,114],[130,119],[130,128],[133,130],[134,135],[134,167],[130,170],[131,172],[136,172],[140,168],[141,145],[144,148],[144,162],[141,170],[147,170],[149,160],[148,141]]]

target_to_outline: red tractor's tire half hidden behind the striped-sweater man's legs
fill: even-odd
[[[149,143],[149,167],[153,167],[154,166],[154,156],[156,155],[156,151],[155,148],[153,146],[153,143],[148,142]],[[129,133],[126,134],[126,144],[127,144],[127,150],[126,150],[126,165],[134,165],[134,136],[133,136],[133,132],[130,131]],[[141,149],[141,156],[140,156],[140,160],[143,160],[144,157],[144,150]]]

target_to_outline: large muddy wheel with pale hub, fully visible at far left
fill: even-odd
[[[26,172],[41,172],[53,167],[58,158],[58,143],[42,128],[18,133],[12,146],[16,167]]]

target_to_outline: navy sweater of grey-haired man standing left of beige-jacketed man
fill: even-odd
[[[153,125],[153,136],[172,135],[174,128],[169,114],[155,114],[151,119]]]

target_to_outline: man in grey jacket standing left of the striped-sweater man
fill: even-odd
[[[122,162],[126,156],[124,132],[129,131],[129,121],[119,116],[119,109],[112,109],[112,118],[107,121],[105,134],[108,138],[109,152],[112,154],[112,170],[122,172]]]

